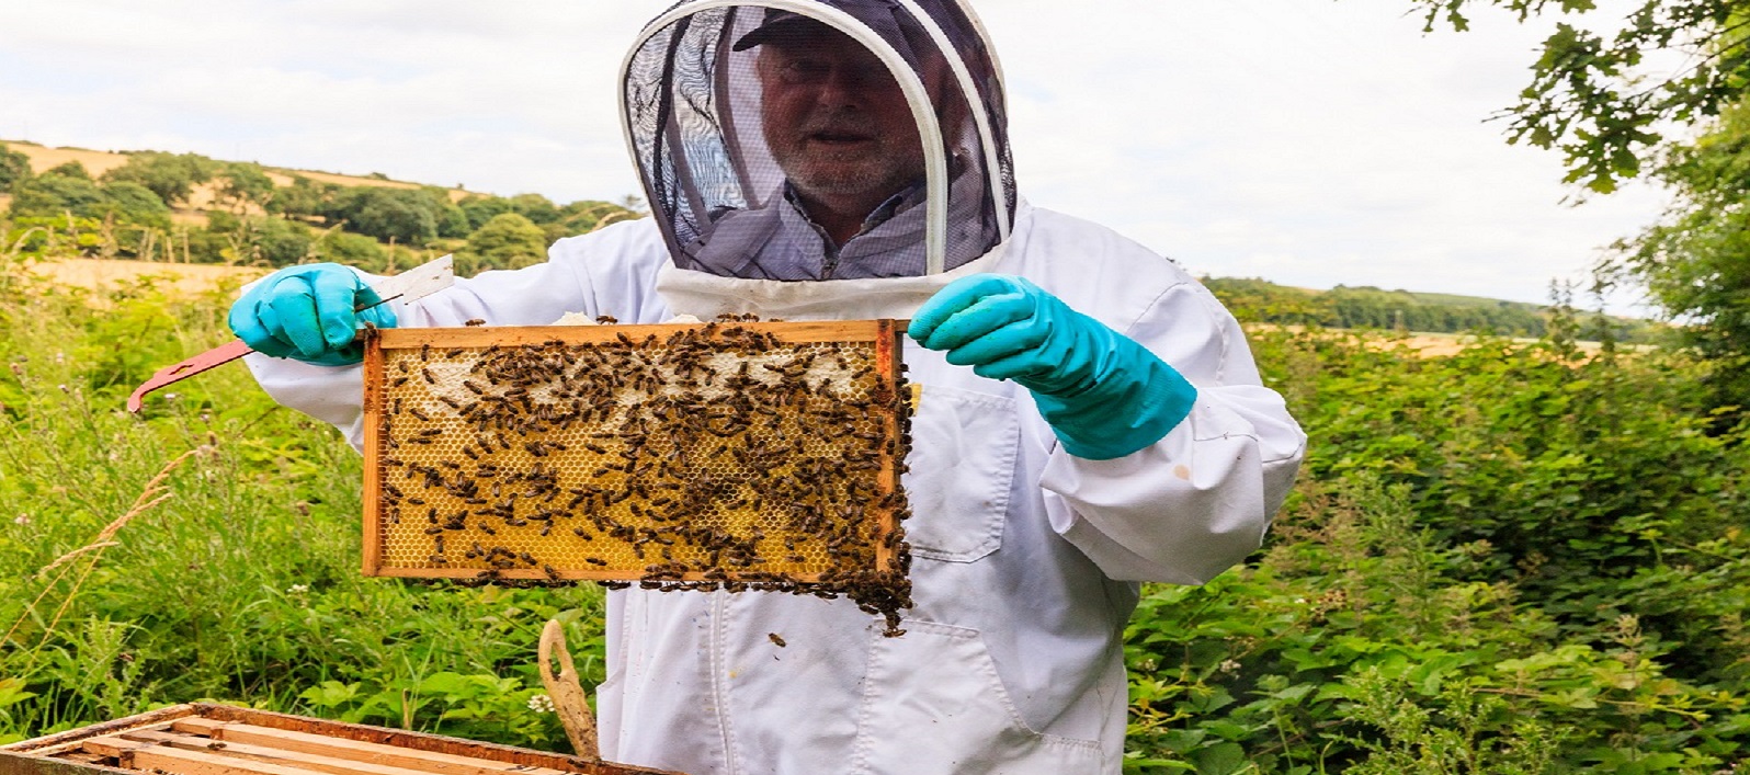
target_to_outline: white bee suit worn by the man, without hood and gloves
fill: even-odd
[[[612,591],[604,758],[693,775],[1116,773],[1120,639],[1138,581],[1197,584],[1253,551],[1304,436],[1208,290],[1104,227],[1026,205],[999,254],[940,276],[782,283],[676,269],[646,219],[562,240],[541,266],[458,280],[402,315],[903,318],[966,271],[1026,276],[1138,339],[1197,387],[1192,415],[1134,455],[1080,460],[1026,390],[906,341],[920,385],[903,479],[906,633],[882,637],[847,600]],[[248,364],[275,399],[360,443],[357,367]]]

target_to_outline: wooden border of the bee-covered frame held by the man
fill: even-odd
[[[483,576],[478,567],[444,567],[448,563],[427,563],[424,567],[396,567],[385,563],[385,535],[388,530],[385,502],[390,497],[385,493],[385,483],[388,474],[385,471],[385,457],[390,457],[385,446],[383,422],[390,415],[390,385],[397,378],[396,373],[388,369],[388,357],[394,353],[420,352],[420,353],[452,353],[457,350],[467,352],[506,352],[511,348],[544,348],[553,345],[607,345],[614,343],[663,343],[670,336],[679,332],[702,332],[714,331],[718,334],[724,331],[746,331],[754,334],[770,334],[784,345],[794,345],[798,348],[808,345],[826,345],[838,343],[868,350],[870,366],[873,366],[873,378],[877,385],[884,385],[884,390],[891,390],[896,395],[903,394],[903,367],[900,366],[900,338],[903,336],[903,322],[896,320],[844,320],[844,322],[719,322],[719,324],[663,324],[663,325],[542,325],[542,327],[460,327],[460,329],[382,329],[374,331],[366,343],[364,357],[364,556],[362,572],[366,576],[390,576],[390,577],[450,577],[450,579],[474,579]],[[404,373],[399,376],[406,376]],[[903,402],[903,395],[892,401],[894,406]],[[872,409],[873,427],[884,439],[901,439],[903,436],[903,409]],[[406,413],[396,416],[397,423],[408,422]],[[892,535],[900,530],[898,521],[903,518],[903,493],[900,490],[900,471],[903,465],[905,448],[903,444],[887,444],[884,441],[884,451],[880,453],[880,467],[875,471],[875,490],[884,495],[892,495],[882,504],[868,506],[868,513],[873,516],[873,534],[872,542],[875,562],[872,569],[845,569],[861,572],[891,572],[901,567],[896,558],[896,548],[903,548]],[[565,453],[558,453],[565,455]],[[467,462],[467,460],[460,460]],[[406,518],[406,516],[402,516]],[[555,525],[558,525],[555,521]],[[880,541],[887,537],[889,541]],[[567,541],[564,534],[555,534],[553,539]],[[450,555],[460,553],[458,548],[450,548]],[[901,549],[903,551],[903,549]],[[544,563],[542,563],[544,565]],[[758,570],[758,569],[756,569]],[[530,579],[530,581],[640,581],[648,579],[646,567],[528,567],[504,569],[494,572],[495,579]],[[709,581],[714,576],[704,572],[686,572],[665,577],[665,581]],[[728,570],[726,576],[716,576],[718,581],[735,581],[740,579],[740,572]],[[758,574],[754,574],[758,579]],[[786,579],[812,583],[821,577],[819,572],[807,574],[788,574]]]

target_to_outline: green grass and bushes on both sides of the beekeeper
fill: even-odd
[[[536,640],[567,621],[600,681],[595,588],[360,577],[357,455],[242,367],[122,411],[229,297],[0,266],[0,740],[212,698],[562,749]],[[1706,432],[1704,362],[1582,353],[1584,325],[1451,359],[1255,332],[1311,455],[1244,567],[1144,588],[1127,770],[1741,766],[1745,430]]]

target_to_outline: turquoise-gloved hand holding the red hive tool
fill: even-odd
[[[364,360],[364,346],[352,341],[360,324],[396,327],[388,304],[354,311],[376,301],[376,290],[345,266],[287,266],[236,299],[229,324],[245,345],[276,359],[350,366]]]

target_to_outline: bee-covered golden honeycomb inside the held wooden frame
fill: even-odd
[[[903,366],[744,322],[382,348],[382,567],[845,597],[901,633]]]

